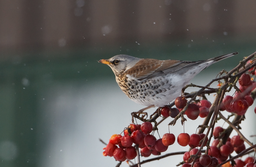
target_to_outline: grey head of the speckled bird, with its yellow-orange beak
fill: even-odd
[[[110,66],[115,75],[117,75],[132,68],[140,60],[141,58],[128,55],[116,55],[108,60],[102,59],[99,62]]]

